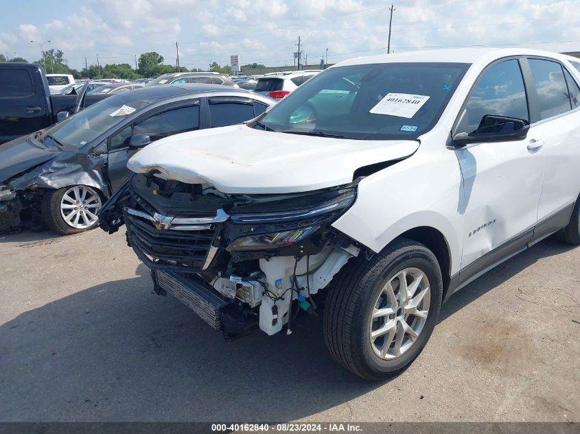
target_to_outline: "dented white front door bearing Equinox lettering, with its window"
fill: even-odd
[[[529,122],[517,58],[489,65],[472,88],[453,135],[473,132],[485,114]],[[528,140],[476,143],[454,152],[463,175],[461,282],[523,250],[531,240],[542,191],[542,160]]]

